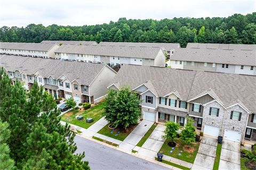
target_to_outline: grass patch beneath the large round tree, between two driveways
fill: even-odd
[[[103,135],[106,135],[107,137],[110,137],[110,138],[114,138],[114,139],[117,139],[117,140],[121,140],[121,141],[124,141],[124,139],[127,137],[127,135],[129,135],[132,130],[137,126],[136,125],[131,125],[128,129],[127,129],[127,132],[124,132],[123,130],[121,129],[118,129],[116,128],[112,133],[111,133],[111,129],[108,128],[108,125],[110,123],[108,123],[106,126],[104,126],[98,133],[100,134],[103,134]],[[119,132],[119,133],[118,133]],[[116,135],[118,133],[118,135]]]

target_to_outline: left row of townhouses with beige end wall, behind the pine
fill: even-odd
[[[37,81],[55,98],[73,97],[76,103],[94,103],[107,94],[116,72],[106,64],[70,62],[35,57],[1,55],[0,64],[12,82],[29,90]]]

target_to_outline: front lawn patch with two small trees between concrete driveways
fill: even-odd
[[[171,153],[170,151],[172,150],[172,148],[168,145],[168,142],[169,140],[165,140],[164,145],[162,146],[159,152],[162,152],[164,155],[181,159],[192,164],[194,163],[196,154],[199,148],[199,143],[191,143],[190,146],[192,150],[185,151],[185,146],[186,146],[185,142],[182,141],[181,139],[177,139],[175,140],[176,146]],[[178,155],[178,154],[181,154],[181,155]]]

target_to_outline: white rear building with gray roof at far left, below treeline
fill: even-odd
[[[57,44],[41,43],[0,43],[0,53],[8,55],[53,58]]]

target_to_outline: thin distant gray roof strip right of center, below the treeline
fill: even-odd
[[[132,43],[132,42],[100,42],[100,46],[131,46],[131,47],[160,47],[166,50],[180,48],[179,43]]]

